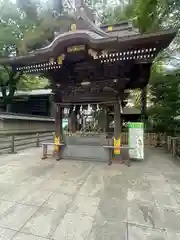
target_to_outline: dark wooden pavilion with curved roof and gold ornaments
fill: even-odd
[[[131,22],[99,27],[90,10],[81,6],[72,23],[48,46],[0,62],[11,65],[14,71],[42,74],[50,79],[59,141],[64,107],[108,104],[114,106],[114,139],[120,145],[120,109],[127,97],[126,90],[142,89],[144,115],[152,61],[175,35],[173,29],[141,35]],[[120,151],[116,154],[120,155]]]

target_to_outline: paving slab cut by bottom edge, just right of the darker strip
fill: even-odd
[[[128,240],[166,240],[166,239],[164,231],[147,227],[128,225]]]

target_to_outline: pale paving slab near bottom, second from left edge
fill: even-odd
[[[25,226],[21,229],[21,232],[50,238],[63,215],[64,211],[61,209],[56,211],[41,207],[25,224]]]

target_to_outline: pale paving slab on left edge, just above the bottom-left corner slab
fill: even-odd
[[[15,204],[0,217],[0,226],[18,231],[37,209],[35,206]]]

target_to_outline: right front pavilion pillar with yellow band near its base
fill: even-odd
[[[114,105],[114,157],[120,158],[121,144],[121,110],[119,99]]]

